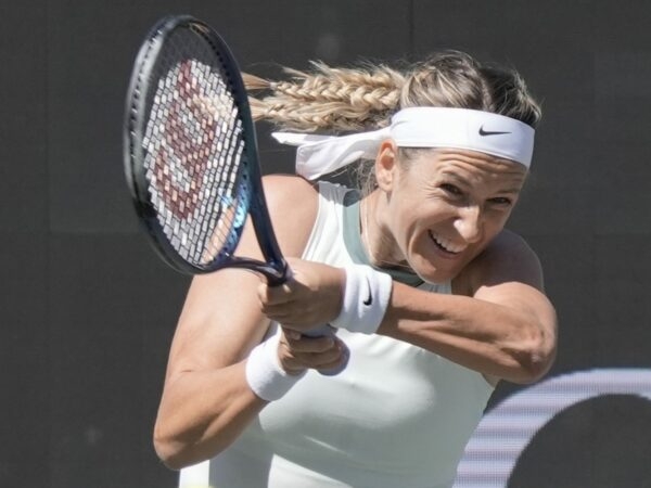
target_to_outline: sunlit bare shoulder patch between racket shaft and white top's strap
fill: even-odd
[[[301,256],[319,209],[316,183],[294,175],[267,175],[263,184],[271,224],[283,254]]]

